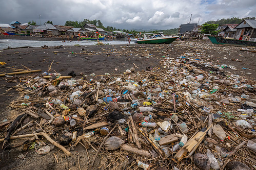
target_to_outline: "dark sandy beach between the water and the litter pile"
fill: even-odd
[[[30,37],[31,38],[31,37]],[[97,77],[88,77],[87,79],[100,78],[100,75],[105,73],[123,74],[126,69],[134,66],[139,67],[136,71],[145,71],[147,68],[164,69],[159,62],[165,57],[174,59],[184,59],[183,62],[191,62],[185,59],[186,56],[193,56],[195,61],[214,63],[218,65],[227,64],[234,66],[235,69],[224,68],[218,74],[225,75],[228,71],[233,74],[239,74],[241,77],[255,79],[255,53],[240,51],[241,47],[213,45],[210,41],[199,40],[194,47],[191,47],[194,41],[175,41],[170,44],[130,44],[130,45],[104,45],[104,46],[65,46],[65,48],[55,49],[49,48],[16,48],[4,50],[0,53],[0,61],[6,62],[7,65],[0,65],[1,73],[13,72],[15,69],[42,69],[42,72],[47,71],[51,65],[50,72],[60,72],[63,76],[67,76],[70,71],[74,71],[77,75],[75,79],[81,78],[81,75],[90,75],[94,73]],[[84,49],[83,49],[84,48]],[[204,61],[204,62],[203,62]],[[193,61],[192,61],[193,62]],[[191,62],[191,64],[193,64]],[[196,64],[200,69],[209,72],[216,71],[206,64]],[[246,69],[243,69],[246,68]],[[12,110],[8,107],[17,96],[18,91],[13,86],[17,85],[21,80],[27,80],[32,75],[40,76],[42,72],[33,74],[17,75],[13,77],[0,77],[0,121],[10,119]],[[82,73],[80,75],[80,73]],[[248,74],[249,73],[249,74]],[[228,74],[227,74],[228,75]],[[10,89],[10,90],[8,90]],[[6,91],[7,90],[7,91]],[[15,113],[17,114],[17,113]],[[77,150],[84,150],[82,147]],[[23,152],[13,150],[10,154],[9,161],[0,163],[8,167],[15,167],[21,164],[17,159]],[[92,153],[95,154],[95,153]],[[49,158],[48,160],[48,157]],[[70,158],[71,159],[71,158]],[[16,161],[13,161],[16,160]],[[27,159],[27,162],[37,162],[45,169],[51,169],[55,158],[51,156],[37,157]],[[72,160],[73,161],[73,160]],[[53,162],[53,163],[52,163]],[[36,169],[36,164],[27,164],[27,167]],[[9,168],[10,169],[10,168]],[[21,168],[22,169],[22,168]],[[44,169],[44,168],[42,168]]]

